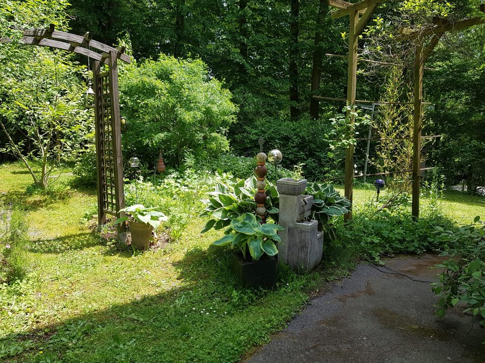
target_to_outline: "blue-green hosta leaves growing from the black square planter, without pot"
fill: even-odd
[[[261,224],[253,213],[244,213],[230,222],[231,231],[214,242],[216,246],[232,245],[240,249],[243,258],[248,252],[253,261],[263,255],[274,256],[278,253],[276,243],[281,243],[277,231],[284,228],[273,223]]]

